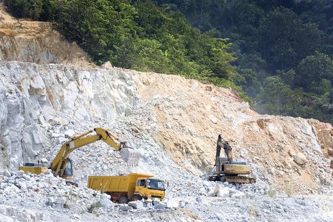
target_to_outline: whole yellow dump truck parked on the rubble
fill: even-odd
[[[153,175],[130,173],[128,175],[89,175],[88,188],[111,195],[113,202],[126,204],[129,201],[159,199],[164,200],[163,180]]]

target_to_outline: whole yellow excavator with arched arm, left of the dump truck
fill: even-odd
[[[92,135],[92,132],[96,132],[96,134]],[[103,140],[114,149],[120,151],[120,156],[125,160],[128,166],[138,166],[138,152],[134,152],[131,147],[127,147],[125,142],[118,142],[118,137],[111,134],[111,132],[108,132],[108,130],[94,128],[94,130],[84,132],[82,135],[73,137],[70,141],[65,142],[61,146],[61,149],[59,150],[58,154],[56,154],[56,157],[51,162],[49,167],[46,164],[43,164],[42,161],[38,161],[38,163],[24,163],[23,166],[20,166],[20,170],[39,174],[43,173],[47,168],[49,168],[52,170],[52,173],[54,173],[55,176],[58,175],[61,178],[68,179],[73,178],[73,164],[68,155],[77,148],[99,140]]]

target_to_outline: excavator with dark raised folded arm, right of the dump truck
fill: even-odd
[[[225,150],[226,157],[220,157],[221,149]],[[251,166],[246,162],[234,161],[232,147],[229,142],[218,135],[216,145],[215,165],[208,180],[230,183],[256,183],[256,179],[250,176]]]

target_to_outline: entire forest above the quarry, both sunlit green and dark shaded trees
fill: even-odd
[[[96,63],[239,85],[260,113],[333,123],[333,0],[4,1]]]

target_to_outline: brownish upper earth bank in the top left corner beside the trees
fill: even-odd
[[[15,19],[1,3],[0,60],[93,66],[87,54],[53,30],[51,23]]]

